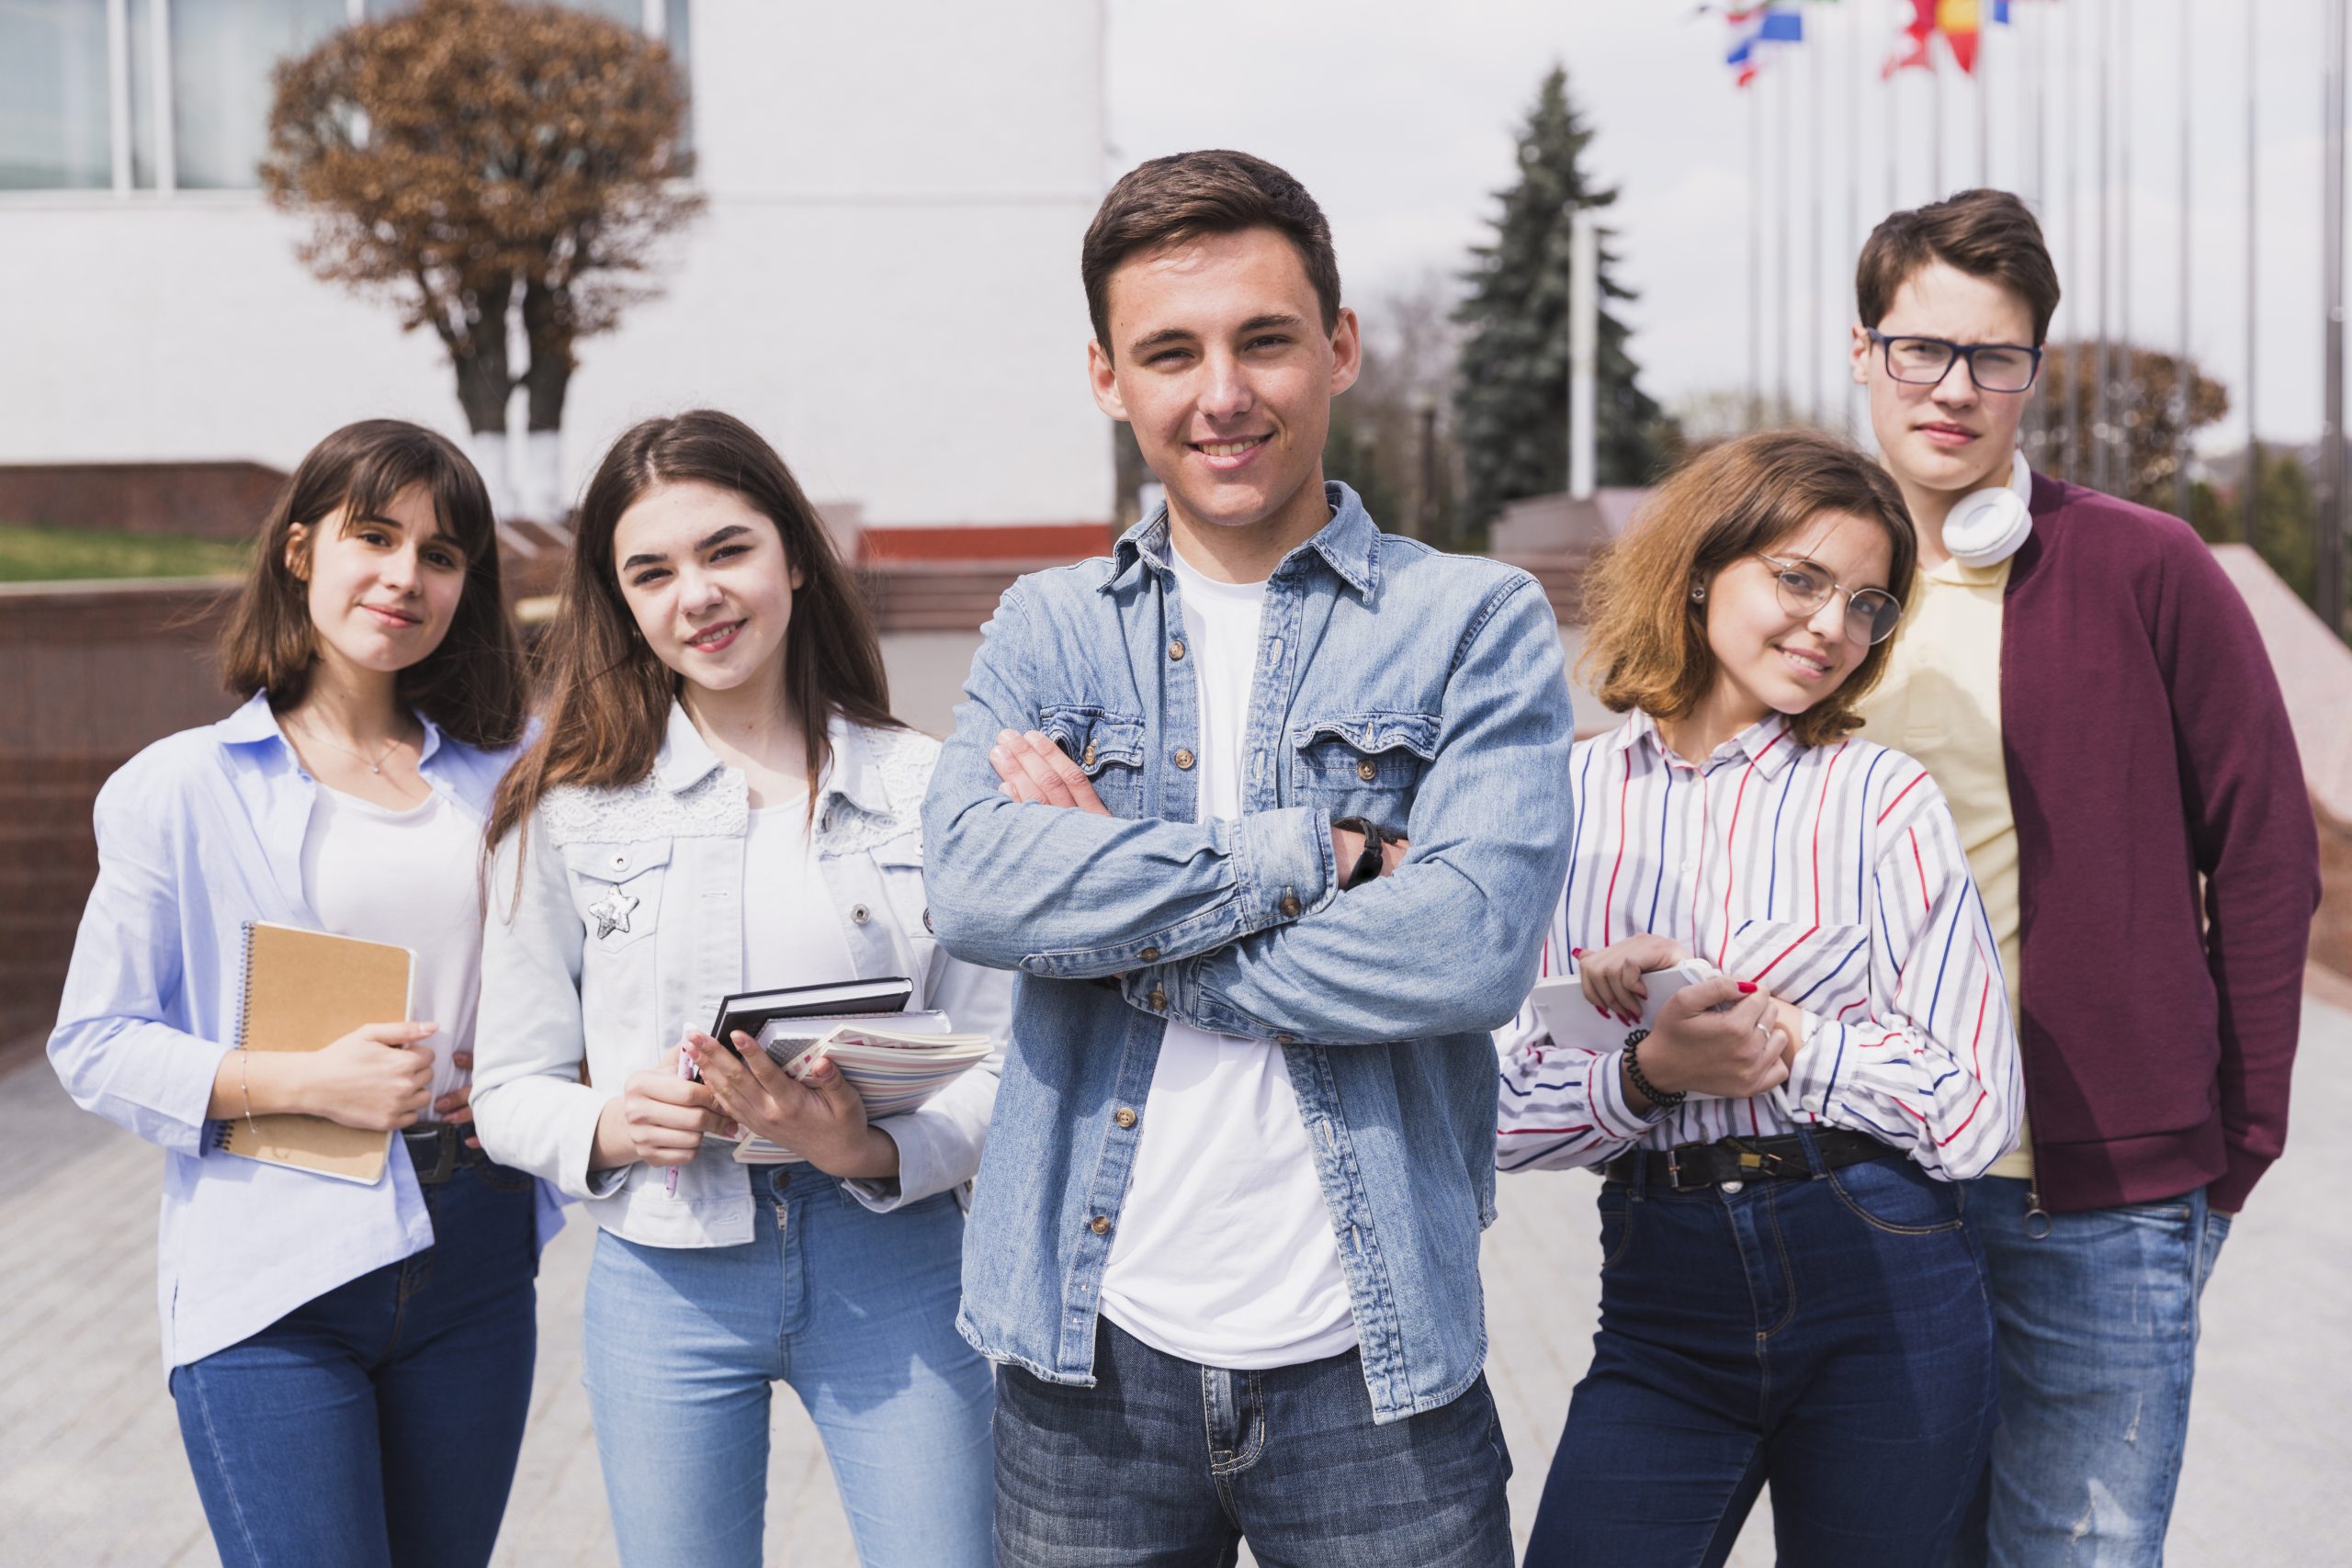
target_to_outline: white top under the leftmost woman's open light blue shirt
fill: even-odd
[[[437,1023],[433,1098],[470,1074],[449,1058],[473,1051],[482,992],[482,830],[435,792],[409,811],[318,788],[301,839],[301,891],[322,931],[390,943],[416,954],[409,1018]],[[381,1023],[397,1023],[386,1018]],[[419,1121],[440,1121],[426,1105]]]

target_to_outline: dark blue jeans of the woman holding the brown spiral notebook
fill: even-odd
[[[223,1568],[489,1561],[539,1347],[534,1187],[459,1166],[421,1190],[433,1246],[172,1368]]]

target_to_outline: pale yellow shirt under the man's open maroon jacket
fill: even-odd
[[[1903,607],[1893,658],[1863,698],[1863,733],[1926,766],[1959,823],[1969,875],[2002,952],[2009,1016],[2018,1016],[2018,820],[2002,762],[2002,595],[2009,562],[1922,569]],[[2034,1173],[2018,1117],[2018,1147],[1987,1175]]]

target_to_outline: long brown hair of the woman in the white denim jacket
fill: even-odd
[[[546,729],[499,785],[487,827],[492,846],[522,827],[557,785],[612,790],[654,771],[680,675],[637,635],[612,541],[621,512],[649,489],[682,482],[741,496],[776,524],[783,559],[802,574],[781,656],[783,689],[809,755],[811,806],[816,780],[833,759],[826,726],[835,715],[898,724],[866,602],[776,449],[715,409],[647,418],[612,444],[581,496],[562,602],[541,644]]]

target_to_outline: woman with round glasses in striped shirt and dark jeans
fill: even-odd
[[[1931,1563],[1959,1528],[1994,1425],[1959,1182],[2020,1095],[1943,795],[1851,733],[1915,550],[1875,463],[1766,433],[1588,578],[1585,670],[1628,717],[1571,762],[1543,973],[1576,1011],[1538,990],[1557,1030],[1498,1039],[1496,1164],[1602,1175],[1534,1568],[1722,1563],[1764,1483],[1783,1563]]]

